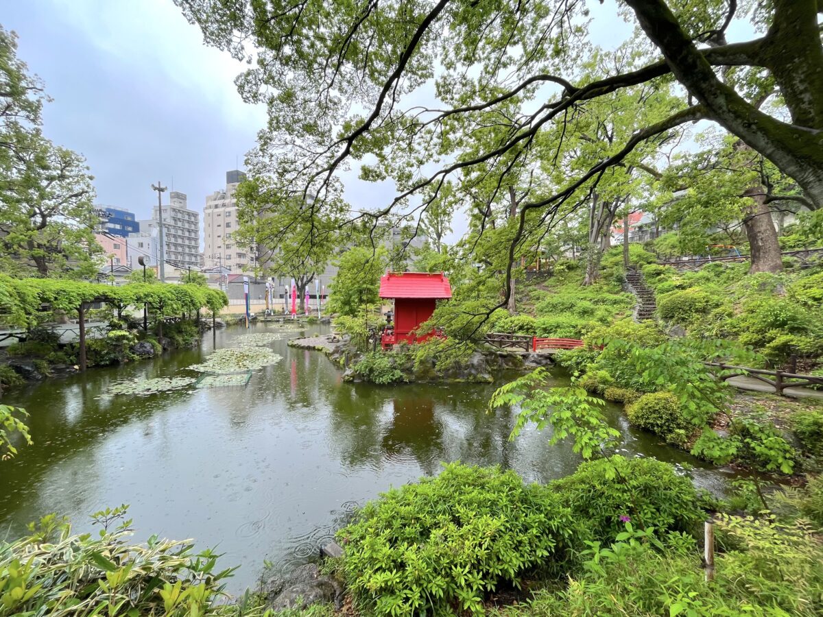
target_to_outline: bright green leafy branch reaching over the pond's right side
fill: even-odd
[[[551,374],[540,367],[523,377],[499,387],[491,395],[489,407],[516,406],[517,420],[509,439],[514,440],[529,423],[537,430],[551,426],[549,443],[555,445],[572,438],[574,452],[585,459],[613,448],[620,433],[603,418],[599,407],[605,403],[590,397],[582,387],[551,387],[546,385]]]

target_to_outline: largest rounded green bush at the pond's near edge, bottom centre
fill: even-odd
[[[486,592],[565,564],[586,537],[545,486],[459,463],[381,494],[337,536],[349,589],[378,615],[481,614]]]

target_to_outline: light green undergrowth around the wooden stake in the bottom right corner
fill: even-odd
[[[820,615],[823,547],[810,529],[745,517],[723,517],[718,528],[736,548],[715,555],[713,581],[692,538],[630,528],[588,550],[565,587],[495,615]]]

